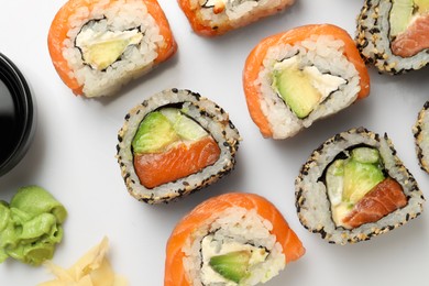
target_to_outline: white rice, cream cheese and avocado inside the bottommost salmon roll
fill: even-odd
[[[191,285],[256,285],[285,267],[272,223],[255,209],[231,207],[210,220],[183,249]]]

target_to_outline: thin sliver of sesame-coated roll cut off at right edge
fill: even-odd
[[[429,173],[429,101],[420,110],[413,128],[416,152],[421,169]]]

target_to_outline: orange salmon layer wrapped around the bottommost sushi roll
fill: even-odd
[[[265,198],[253,194],[231,193],[221,195],[198,205],[191,212],[183,218],[173,230],[166,248],[164,286],[189,286],[191,285],[185,274],[183,264],[183,246],[186,240],[200,226],[204,226],[213,213],[220,213],[231,207],[241,207],[256,212],[273,224],[272,234],[276,235],[277,242],[283,248],[286,263],[298,260],[305,254],[302,243],[289,228],[285,218]]]

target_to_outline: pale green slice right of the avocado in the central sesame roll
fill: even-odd
[[[188,118],[179,109],[164,108],[161,112],[169,120],[180,139],[198,141],[208,135],[208,132],[200,124]]]

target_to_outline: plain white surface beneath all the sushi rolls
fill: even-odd
[[[75,97],[52,65],[46,37],[65,0],[1,0],[0,52],[28,78],[37,101],[37,131],[24,160],[0,178],[0,199],[36,184],[68,209],[65,237],[54,262],[70,266],[80,255],[110,239],[109,257],[130,285],[163,285],[165,244],[177,221],[199,202],[229,191],[263,195],[273,201],[301,239],[307,253],[266,285],[427,285],[429,212],[387,234],[354,245],[332,245],[299,223],[294,180],[314,148],[353,127],[387,132],[399,157],[429,197],[429,175],[415,154],[411,127],[428,100],[429,69],[391,77],[370,68],[372,91],[332,118],[293,139],[263,139],[253,124],[242,90],[242,69],[250,51],[265,36],[302,24],[332,23],[351,35],[362,0],[297,0],[285,13],[222,37],[191,32],[176,1],[160,0],[178,42],[178,53],[119,95],[102,99]],[[237,167],[182,201],[148,206],[132,198],[114,158],[117,132],[129,109],[166,88],[187,88],[223,107],[243,141]],[[1,136],[6,136],[2,134]],[[8,260],[0,265],[1,285],[35,285],[53,276],[43,267]]]

